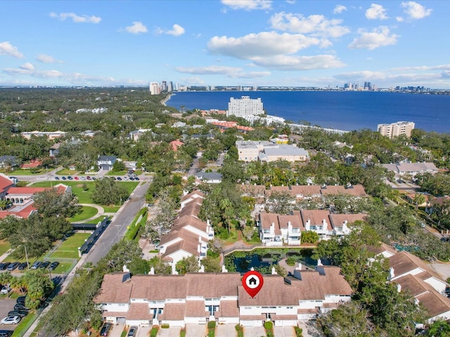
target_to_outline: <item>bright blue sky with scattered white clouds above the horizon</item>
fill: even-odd
[[[0,3],[0,86],[450,88],[448,1]]]

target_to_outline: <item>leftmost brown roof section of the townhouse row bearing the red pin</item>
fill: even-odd
[[[129,303],[129,296],[133,284],[125,281],[124,277],[127,273],[117,272],[114,274],[106,274],[103,277],[103,283],[100,293],[96,296],[95,303]]]

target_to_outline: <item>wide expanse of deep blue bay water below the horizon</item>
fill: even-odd
[[[450,95],[356,91],[188,91],[167,105],[186,110],[227,110],[231,97],[261,98],[267,114],[340,130],[376,130],[381,123],[413,121],[416,128],[450,133]]]

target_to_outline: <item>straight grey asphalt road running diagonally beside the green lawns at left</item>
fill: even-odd
[[[149,183],[141,183],[131,194],[129,200],[125,201],[122,208],[113,217],[113,221],[105,229],[94,247],[87,253],[84,263],[91,262],[94,265],[105,256],[111,246],[124,237],[127,226],[131,224],[139,210],[146,205],[146,193]]]

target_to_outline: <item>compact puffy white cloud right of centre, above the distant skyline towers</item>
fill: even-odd
[[[364,29],[359,29],[359,37],[356,37],[349,48],[366,48],[369,51],[373,49],[390,46],[392,44],[397,44],[397,37],[399,35],[390,32],[389,28],[386,26],[380,26],[374,28],[372,32],[366,32]]]

